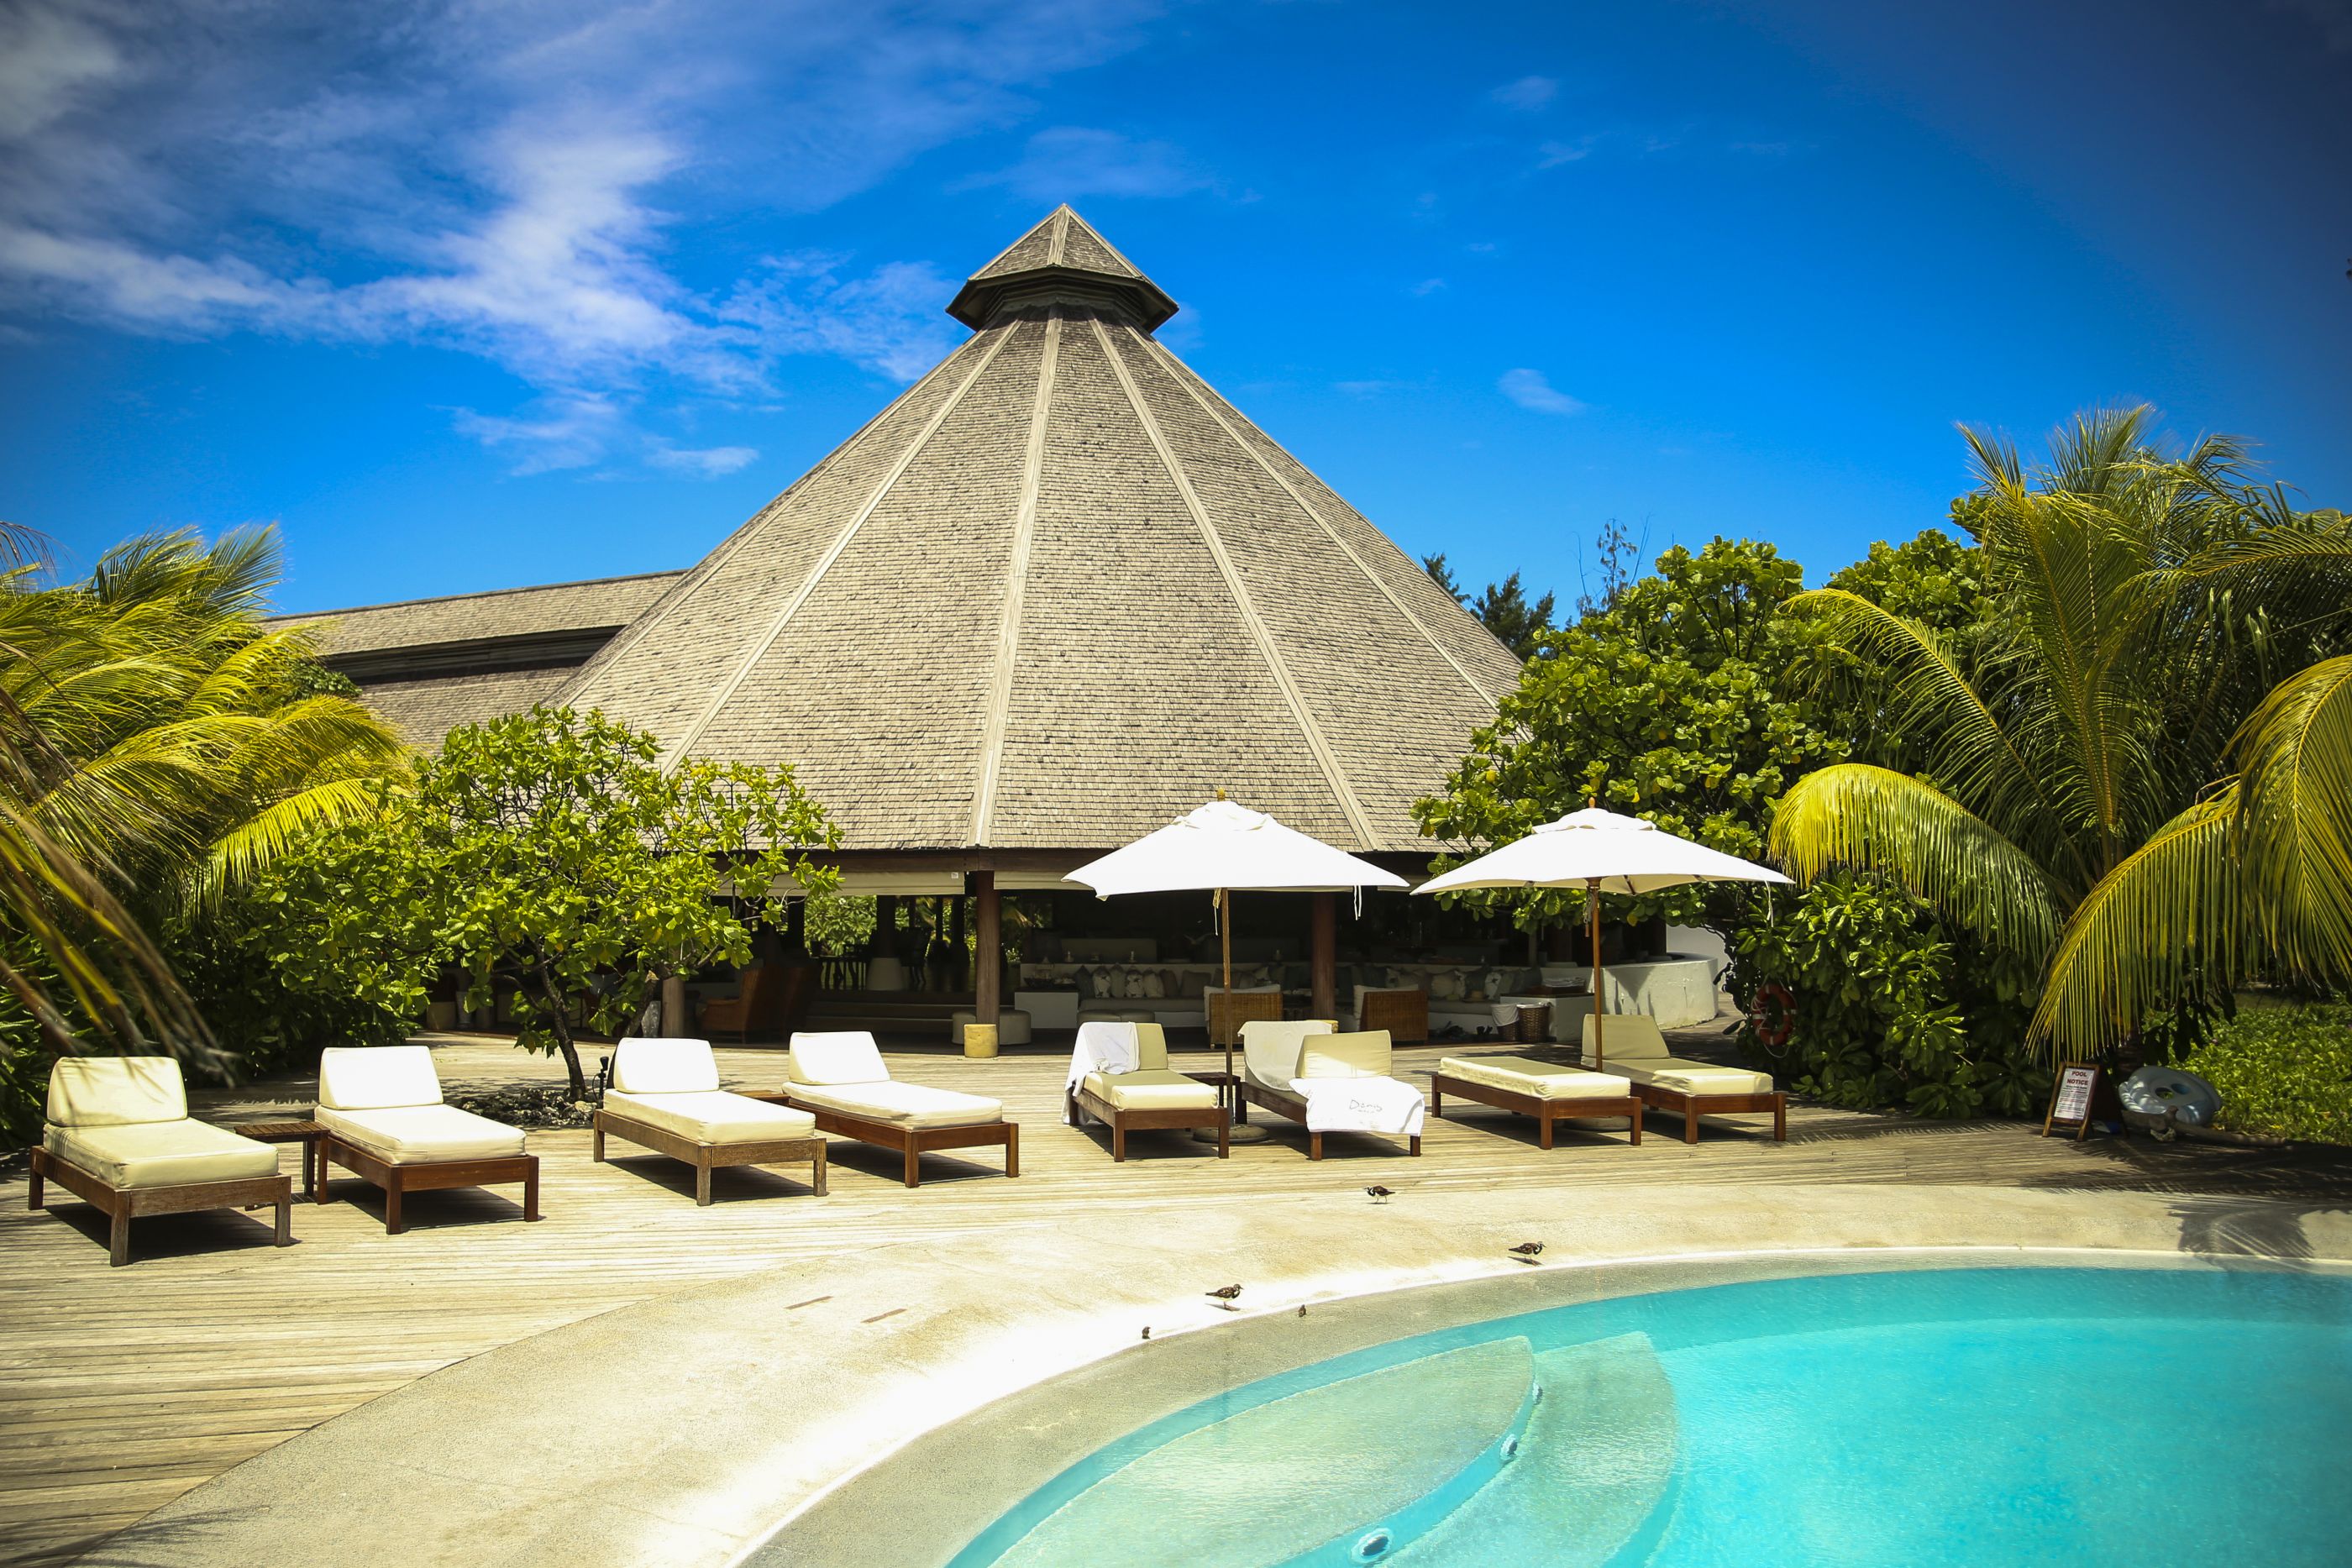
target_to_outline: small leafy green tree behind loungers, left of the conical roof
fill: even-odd
[[[840,886],[807,858],[840,832],[793,769],[663,766],[654,736],[600,712],[541,705],[456,729],[402,809],[468,1006],[513,992],[517,1044],[562,1053],[574,1093],[576,1020],[614,1032],[663,978],[750,959],[724,898],[764,907],[788,882]]]

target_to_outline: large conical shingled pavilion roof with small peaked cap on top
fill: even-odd
[[[1517,661],[1152,341],[1138,284],[1056,209],[957,294],[971,341],[562,701],[797,764],[847,849],[1112,849],[1216,788],[1425,849],[1411,802]]]

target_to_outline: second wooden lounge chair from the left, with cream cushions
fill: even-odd
[[[539,1218],[539,1157],[522,1133],[442,1105],[426,1046],[327,1046],[318,1056],[318,1201],[329,1199],[329,1166],[383,1190],[383,1229],[409,1227],[409,1192],[522,1182],[522,1218]]]

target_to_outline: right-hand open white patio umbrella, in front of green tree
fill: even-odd
[[[1788,882],[1780,872],[1665,832],[1616,811],[1571,811],[1524,839],[1430,877],[1416,893],[1468,889],[1585,889],[1592,912],[1592,1065],[1602,1058],[1602,900],[1599,893],[1656,893],[1684,882]]]

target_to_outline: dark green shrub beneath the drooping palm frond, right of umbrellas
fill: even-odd
[[[1955,943],[1900,889],[1825,877],[1783,900],[1778,919],[1745,926],[1736,957],[1745,1048],[1792,1072],[1795,1088],[1816,1100],[2023,1117],[2049,1088],[2025,1048],[2027,976],[1997,952]],[[1759,1009],[1766,987],[1785,987],[1788,1001]],[[1785,1041],[1759,1039],[1759,1011],[1785,1018]]]

